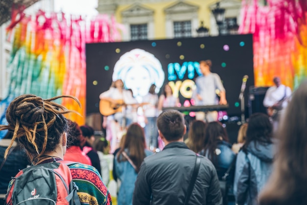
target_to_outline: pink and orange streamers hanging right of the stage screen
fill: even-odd
[[[307,71],[306,0],[268,0],[268,6],[242,1],[239,33],[254,34],[256,86],[270,86],[273,77],[296,87]]]

